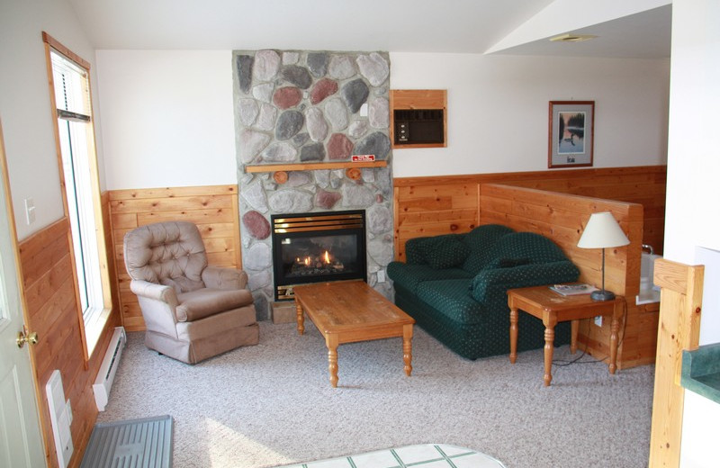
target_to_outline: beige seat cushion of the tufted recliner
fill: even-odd
[[[253,303],[247,289],[223,290],[202,288],[177,295],[175,313],[178,321],[200,320],[220,311],[228,311]]]

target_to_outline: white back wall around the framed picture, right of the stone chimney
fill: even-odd
[[[393,175],[547,168],[549,101],[595,101],[595,167],[665,164],[669,60],[392,53],[392,89],[447,89],[447,148],[393,149]]]

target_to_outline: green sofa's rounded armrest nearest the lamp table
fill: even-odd
[[[475,301],[487,302],[497,298],[499,294],[506,295],[509,289],[572,283],[579,277],[578,267],[569,260],[563,260],[545,264],[485,269],[473,278],[471,288]]]

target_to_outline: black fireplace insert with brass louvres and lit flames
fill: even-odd
[[[293,300],[293,286],[366,281],[365,211],[274,214],[275,300]]]

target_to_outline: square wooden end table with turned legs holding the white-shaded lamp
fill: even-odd
[[[557,322],[572,320],[571,353],[577,349],[578,324],[581,319],[591,319],[599,315],[612,318],[610,326],[610,374],[617,369],[617,332],[620,319],[625,313],[625,299],[616,296],[612,301],[593,301],[590,294],[563,296],[548,286],[511,289],[508,291],[510,308],[510,363],[518,359],[518,311],[526,311],[533,317],[543,320],[545,325],[545,386],[553,380],[553,349],[555,325]]]

